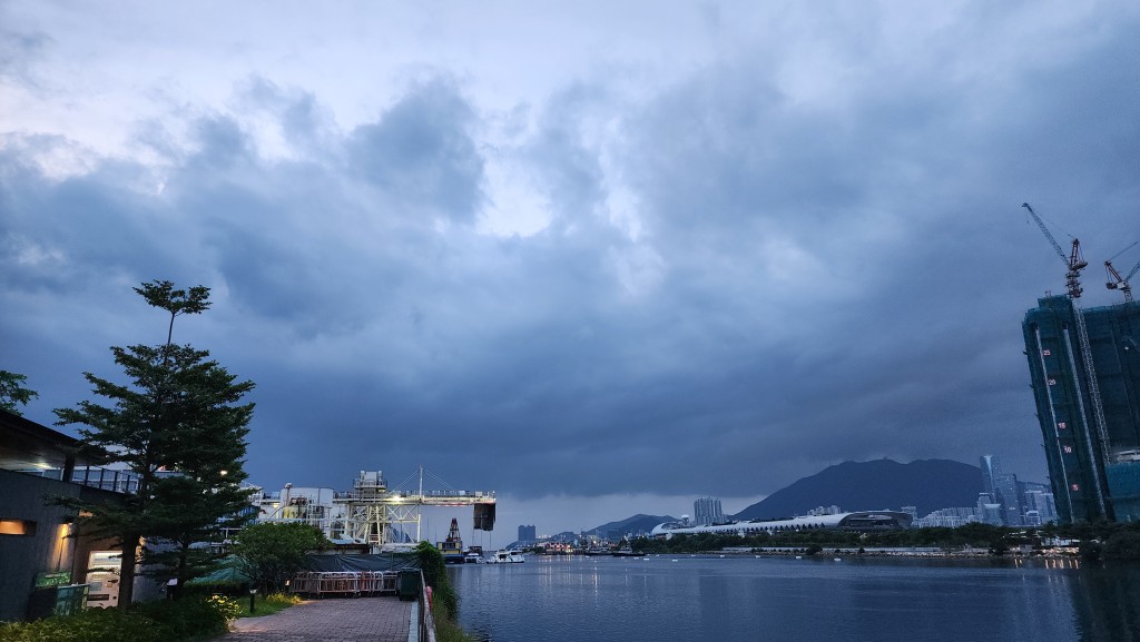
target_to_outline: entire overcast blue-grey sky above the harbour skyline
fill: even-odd
[[[1044,480],[1020,323],[1064,266],[1020,204],[1119,299],[1140,5],[553,5],[0,2],[25,414],[163,341],[131,287],[171,279],[269,489],[422,464],[508,542],[846,460]]]

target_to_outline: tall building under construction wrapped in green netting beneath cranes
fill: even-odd
[[[1045,296],[1021,328],[1058,517],[1140,519],[1140,302],[1081,312],[1067,296]]]

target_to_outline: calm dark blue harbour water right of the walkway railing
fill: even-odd
[[[451,578],[491,642],[1140,641],[1140,568],[528,555]]]

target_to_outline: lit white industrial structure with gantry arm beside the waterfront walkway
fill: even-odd
[[[425,490],[422,466],[418,486],[402,487],[409,477],[389,489],[382,471],[360,471],[352,490],[332,488],[294,488],[286,483],[279,493],[254,489],[253,503],[259,509],[258,521],[303,522],[320,528],[331,542],[341,547],[356,547],[378,553],[407,547],[422,539],[420,531],[423,506],[472,506],[474,528],[495,528],[495,493],[482,490]],[[433,477],[440,483],[446,482]]]

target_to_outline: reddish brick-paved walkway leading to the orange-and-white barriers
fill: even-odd
[[[236,619],[215,642],[408,642],[415,606],[397,598],[311,600],[271,616]]]

